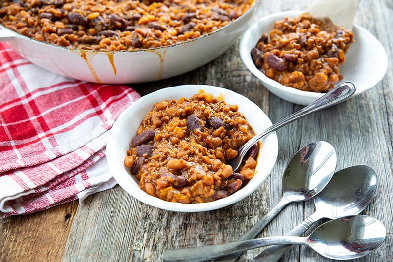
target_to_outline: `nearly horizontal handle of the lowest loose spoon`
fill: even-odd
[[[249,249],[276,244],[307,244],[307,237],[272,236],[232,243],[165,250],[161,256],[163,262],[197,262],[225,256],[233,252],[243,252]]]

